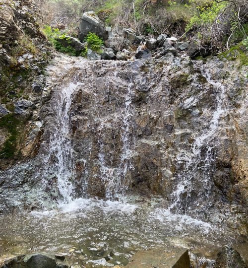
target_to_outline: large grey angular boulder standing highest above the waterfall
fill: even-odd
[[[83,13],[79,25],[78,39],[83,42],[89,32],[95,33],[103,40],[107,40],[109,36],[104,23],[93,11]]]

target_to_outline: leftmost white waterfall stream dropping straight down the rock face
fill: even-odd
[[[53,131],[49,140],[48,154],[44,155],[42,170],[43,185],[48,187],[49,178],[57,180],[57,187],[62,197],[62,202],[72,200],[73,179],[75,167],[73,159],[72,140],[70,138],[70,106],[71,95],[79,83],[70,82],[68,86],[60,86],[57,90],[52,109],[55,111]]]

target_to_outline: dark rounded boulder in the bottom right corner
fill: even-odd
[[[230,246],[225,246],[217,255],[215,268],[247,268],[239,252]]]

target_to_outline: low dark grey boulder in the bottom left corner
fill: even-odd
[[[38,252],[6,261],[1,268],[70,268],[64,259],[62,255]]]

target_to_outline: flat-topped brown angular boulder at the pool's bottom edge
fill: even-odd
[[[126,268],[190,268],[188,250],[166,248],[140,251],[131,258]]]

